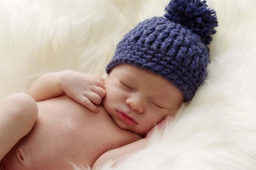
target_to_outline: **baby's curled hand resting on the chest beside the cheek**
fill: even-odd
[[[74,71],[69,72],[63,80],[62,89],[66,95],[92,112],[98,112],[98,108],[94,104],[101,104],[106,95],[103,78],[95,74]]]

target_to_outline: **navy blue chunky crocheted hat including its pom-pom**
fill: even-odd
[[[106,71],[122,63],[138,66],[162,75],[190,101],[207,75],[216,13],[200,0],[173,0],[165,11],[165,17],[140,22],[124,36]]]

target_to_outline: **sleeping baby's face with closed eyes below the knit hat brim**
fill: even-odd
[[[147,134],[183,103],[182,92],[160,75],[129,64],[116,66],[105,81],[103,106],[119,128]]]

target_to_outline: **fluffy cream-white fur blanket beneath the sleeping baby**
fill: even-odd
[[[43,72],[105,75],[124,34],[168,2],[0,0],[0,97],[27,92]],[[256,169],[256,1],[207,4],[219,21],[209,77],[163,133],[114,169]]]

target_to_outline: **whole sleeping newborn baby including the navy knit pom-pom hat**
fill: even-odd
[[[190,101],[207,74],[207,45],[218,22],[205,1],[189,2],[171,1],[165,18],[145,20],[127,33],[106,67],[106,80],[74,71],[45,73],[30,87],[31,97],[2,99],[0,169],[98,169],[145,148],[147,134]],[[202,23],[185,15],[191,13],[186,7],[203,9]],[[174,20],[177,13],[185,18]],[[195,24],[207,33],[191,28]]]

